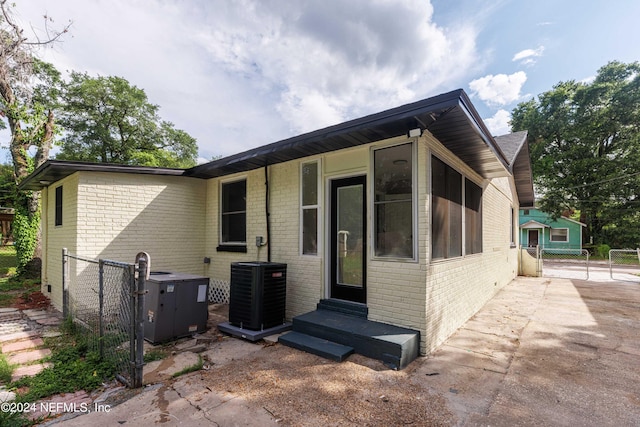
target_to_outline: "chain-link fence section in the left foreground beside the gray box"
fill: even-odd
[[[129,387],[142,386],[145,274],[137,271],[146,271],[146,259],[136,266],[62,250],[63,314]]]

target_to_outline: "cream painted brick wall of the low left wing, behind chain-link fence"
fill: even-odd
[[[63,225],[55,227],[55,187],[47,189],[46,283],[62,308],[63,247],[86,258],[133,262],[148,252],[153,270],[203,274],[206,182],[194,178],[79,172],[63,185]]]

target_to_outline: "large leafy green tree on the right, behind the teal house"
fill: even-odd
[[[640,246],[640,63],[560,82],[518,105],[511,126],[529,131],[542,210],[579,210],[596,244]]]

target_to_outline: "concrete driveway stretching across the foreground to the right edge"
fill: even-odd
[[[638,283],[520,277],[402,371],[225,338],[209,370],[59,424],[640,426],[639,331]]]

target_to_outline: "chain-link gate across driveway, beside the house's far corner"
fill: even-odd
[[[589,251],[586,249],[540,249],[542,275],[589,280]]]

